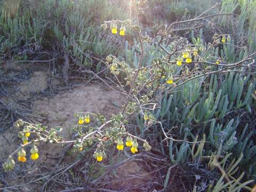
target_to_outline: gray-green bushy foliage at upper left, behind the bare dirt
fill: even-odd
[[[100,25],[109,17],[127,18],[121,14],[124,7],[106,0],[24,1],[13,17],[1,7],[0,57],[26,59],[42,50],[60,50],[60,57],[67,53],[77,65],[90,67],[93,57],[120,52],[122,39]]]

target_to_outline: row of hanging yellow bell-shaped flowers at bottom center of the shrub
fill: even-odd
[[[130,147],[131,153],[135,154],[138,152],[138,142],[137,140],[133,140],[131,136],[128,136],[126,138],[125,142],[126,147]],[[143,147],[145,148],[146,151],[150,150],[151,147],[148,145],[147,142],[143,143]],[[122,139],[117,140],[117,145],[116,145],[117,150],[124,150],[124,142]],[[103,160],[103,153],[102,151],[98,150],[97,152],[94,153],[94,157],[97,159],[98,162],[101,162]]]

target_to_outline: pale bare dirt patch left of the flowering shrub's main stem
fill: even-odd
[[[61,136],[70,139],[71,129],[77,124],[77,118],[73,116],[76,112],[100,113],[110,118],[120,111],[125,100],[123,95],[92,83],[61,92],[54,98],[37,100],[33,110],[36,116],[42,117],[37,121],[49,127],[61,126]]]

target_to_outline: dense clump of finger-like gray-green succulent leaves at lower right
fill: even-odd
[[[250,83],[249,78],[235,72],[197,78],[177,87],[172,94],[166,94],[162,108],[153,113],[162,122],[154,125],[154,136],[162,143],[166,140],[163,130],[172,138],[167,138],[169,147],[162,146],[162,151],[169,154],[173,164],[207,162],[209,170],[220,165],[226,171],[230,181],[226,182],[223,174],[210,191],[240,191],[253,182],[242,179],[255,179],[252,176],[256,171],[253,132],[248,124],[242,123],[242,113],[239,113],[251,111],[255,82]],[[144,122],[137,123],[145,135]]]

